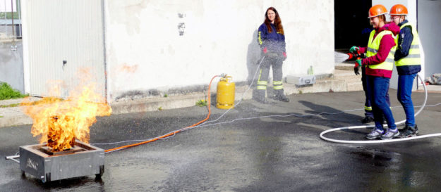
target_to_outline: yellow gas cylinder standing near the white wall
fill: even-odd
[[[236,84],[231,76],[222,77],[217,83],[216,107],[219,109],[234,108],[234,91]]]

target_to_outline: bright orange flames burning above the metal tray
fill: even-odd
[[[33,136],[41,136],[40,143],[47,142],[52,151],[72,148],[75,139],[88,143],[89,127],[97,121],[96,116],[111,114],[110,106],[95,90],[95,84],[89,83],[77,87],[66,100],[47,97],[30,102],[25,99],[22,105],[24,113],[33,119]]]

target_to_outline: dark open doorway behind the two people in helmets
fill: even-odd
[[[367,46],[372,26],[368,11],[372,1],[334,1],[335,49],[348,50],[351,46]]]

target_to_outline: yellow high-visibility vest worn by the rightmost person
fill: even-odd
[[[407,55],[404,58],[401,58],[401,59],[395,61],[395,65],[397,65],[397,67],[403,66],[403,65],[421,65],[421,56],[420,56],[420,45],[419,45],[419,41],[418,41],[418,39],[419,39],[418,32],[416,32],[415,27],[413,27],[409,23],[401,25],[401,27],[399,27],[399,29],[401,30],[403,27],[406,27],[406,26],[411,27],[412,35],[413,35],[413,40],[412,40],[411,47],[409,49],[409,55]],[[396,41],[398,41],[398,38],[395,38],[395,39],[397,39]]]

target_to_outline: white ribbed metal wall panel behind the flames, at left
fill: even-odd
[[[30,94],[49,96],[50,84],[62,81],[58,96],[66,97],[87,68],[105,96],[102,0],[27,0],[22,10]]]

